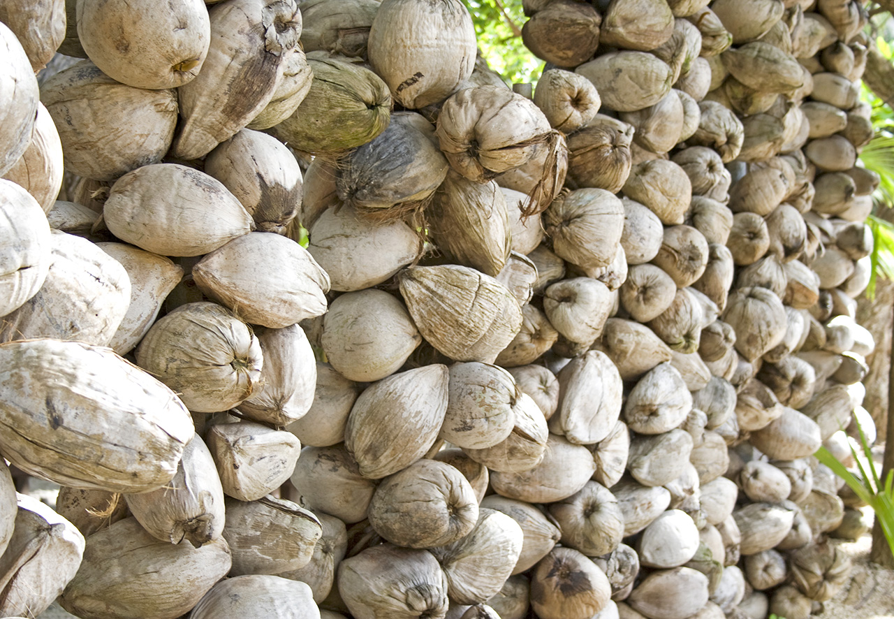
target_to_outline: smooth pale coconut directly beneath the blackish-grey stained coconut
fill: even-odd
[[[319,216],[311,226],[308,244],[311,256],[337,291],[381,284],[414,262],[421,249],[418,234],[405,222],[370,224],[349,207],[328,209]]]

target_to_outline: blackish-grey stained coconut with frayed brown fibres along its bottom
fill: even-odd
[[[339,165],[336,187],[345,204],[369,216],[391,217],[425,204],[448,167],[431,123],[400,112],[382,133],[350,152]]]

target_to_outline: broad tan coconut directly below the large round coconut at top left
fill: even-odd
[[[173,89],[126,86],[84,60],[47,80],[40,95],[59,131],[65,170],[73,174],[112,181],[158,163],[171,146]]]

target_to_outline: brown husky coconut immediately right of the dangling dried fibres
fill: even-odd
[[[631,125],[603,114],[569,134],[569,187],[620,191],[630,174],[633,135]]]

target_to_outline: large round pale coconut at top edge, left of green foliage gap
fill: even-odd
[[[458,0],[389,0],[376,11],[367,44],[369,63],[409,108],[448,98],[471,76],[476,51],[471,15]]]

